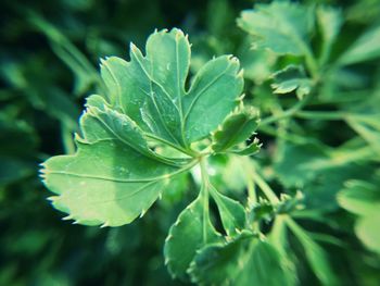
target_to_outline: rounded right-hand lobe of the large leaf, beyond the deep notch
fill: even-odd
[[[242,88],[237,58],[223,55],[206,63],[185,97],[186,138],[195,141],[215,130],[240,102]]]

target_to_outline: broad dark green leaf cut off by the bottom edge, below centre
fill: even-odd
[[[289,285],[276,249],[245,232],[225,246],[203,248],[190,274],[200,285]]]

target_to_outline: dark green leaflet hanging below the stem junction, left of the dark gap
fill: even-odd
[[[187,279],[187,270],[197,251],[206,244],[220,240],[208,217],[204,216],[199,196],[178,216],[165,240],[165,264],[173,277]]]

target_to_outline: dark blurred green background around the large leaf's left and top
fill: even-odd
[[[342,8],[352,28],[347,41],[380,16],[377,0],[315,2]],[[252,5],[249,0],[1,1],[0,285],[181,285],[169,277],[162,249],[168,227],[194,195],[187,191],[191,182],[176,182],[143,220],[101,229],[61,221],[46,200],[38,164],[74,151],[72,134],[84,99],[102,91],[100,58],[127,58],[130,41],[143,47],[155,28],[172,27],[190,35],[193,71],[213,55],[244,58],[246,35],[236,18]],[[262,140],[270,142],[270,136]],[[357,263],[351,271],[373,282],[377,263]]]

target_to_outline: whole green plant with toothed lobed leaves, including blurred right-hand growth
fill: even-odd
[[[254,97],[244,103],[233,57],[211,60],[189,79],[190,45],[176,28],[152,34],[145,55],[131,45],[129,62],[102,61],[106,96],[87,99],[77,151],[43,163],[43,182],[56,194],[52,204],[68,214],[64,220],[119,226],[190,174],[200,190],[164,247],[174,277],[201,285],[294,285],[296,270],[308,268],[319,283],[339,284],[320,243],[342,241],[309,232],[301,220],[320,223],[330,215],[324,223],[334,228],[339,202],[360,215],[358,237],[379,251],[377,234],[363,231],[375,229],[377,202],[365,211],[355,202],[378,199],[376,185],[362,181],[378,179],[379,92],[373,88],[357,104],[346,92],[350,83],[339,80],[350,73],[356,78],[347,66],[379,57],[379,26],[334,50],[342,24],[341,12],[326,7],[274,2],[244,11],[238,25],[263,55],[248,66],[245,79],[254,87],[245,90]],[[257,64],[268,72],[264,80]],[[357,82],[360,90],[365,84]],[[338,146],[320,137],[330,121],[344,122],[333,138]],[[276,149],[252,160],[244,156],[259,150],[256,128],[275,138]],[[218,166],[224,160],[235,162],[229,171],[240,167],[233,175],[241,176],[243,191],[223,189],[233,179],[218,177],[228,167]],[[345,184],[349,190],[337,200]]]

